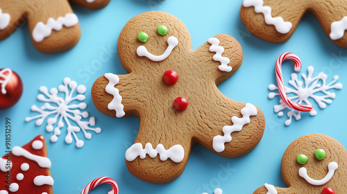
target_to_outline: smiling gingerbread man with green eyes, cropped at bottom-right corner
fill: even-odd
[[[282,158],[282,179],[289,188],[265,184],[253,194],[347,193],[347,152],[323,134],[307,134],[291,143]]]

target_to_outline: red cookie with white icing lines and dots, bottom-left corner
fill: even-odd
[[[44,136],[36,136],[23,147],[13,147],[12,152],[0,158],[0,193],[53,194],[49,168],[51,160],[47,158]]]

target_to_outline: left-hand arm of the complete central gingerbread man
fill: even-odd
[[[141,102],[135,96],[142,91],[142,85],[133,76],[133,73],[120,76],[105,73],[105,76],[98,78],[92,87],[96,109],[108,116],[138,116],[135,109],[139,109]]]

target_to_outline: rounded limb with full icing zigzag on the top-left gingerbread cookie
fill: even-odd
[[[33,44],[42,53],[72,48],[81,36],[78,18],[66,0],[42,2],[40,9],[27,10],[27,15]]]

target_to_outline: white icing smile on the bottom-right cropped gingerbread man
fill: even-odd
[[[338,166],[339,165],[335,161],[330,162],[328,164],[328,169],[329,169],[328,174],[323,179],[320,179],[320,180],[312,179],[309,175],[307,175],[307,169],[305,167],[301,167],[299,169],[299,175],[303,177],[309,184],[321,186],[330,181],[330,179],[334,175],[335,170],[337,169]]]

